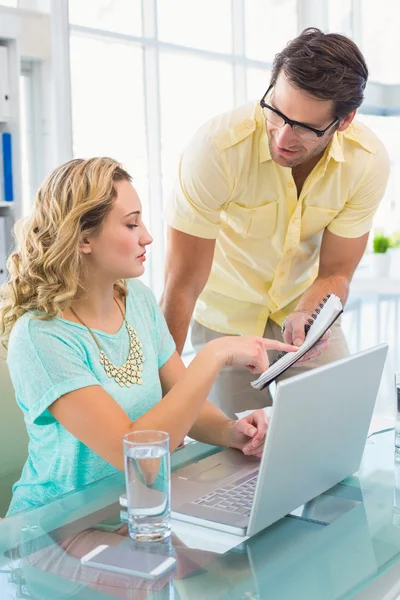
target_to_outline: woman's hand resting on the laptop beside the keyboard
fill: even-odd
[[[229,446],[242,450],[246,456],[261,456],[268,421],[263,410],[255,410],[230,426]]]

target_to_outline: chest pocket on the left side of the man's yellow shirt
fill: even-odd
[[[268,202],[257,208],[246,208],[231,202],[226,211],[226,223],[243,237],[267,238],[274,233],[276,212],[276,202]]]

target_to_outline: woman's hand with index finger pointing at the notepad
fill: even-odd
[[[296,352],[290,344],[256,336],[226,336],[207,344],[217,357],[230,367],[246,367],[251,373],[263,373],[269,367],[267,350]]]

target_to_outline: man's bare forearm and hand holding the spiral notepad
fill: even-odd
[[[295,311],[285,321],[284,340],[300,346],[305,338],[304,326],[309,315],[326,294],[333,293],[344,305],[354,271],[364,254],[369,233],[344,238],[325,229],[322,238],[319,271],[314,283],[304,292]]]

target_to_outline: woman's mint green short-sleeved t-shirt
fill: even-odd
[[[43,321],[31,313],[16,322],[7,363],[24,413],[29,451],[7,514],[45,504],[116,472],[52,416],[48,407],[57,398],[101,385],[132,421],[161,400],[159,369],[172,356],[175,344],[153,293],[137,279],[128,282],[128,292],[126,319],[136,330],[144,355],[142,385],[120,387],[107,377],[99,350],[83,325],[59,318]],[[124,364],[129,352],[125,324],[114,335],[94,333],[111,362]]]

